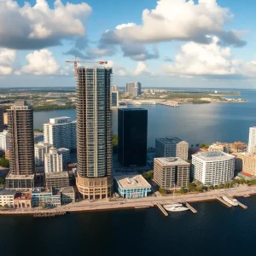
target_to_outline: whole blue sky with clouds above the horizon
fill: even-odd
[[[256,89],[255,8],[255,0],[0,0],[0,87],[74,86],[65,61],[78,55],[108,61],[119,87]]]

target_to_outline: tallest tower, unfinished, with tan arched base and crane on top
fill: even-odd
[[[77,69],[77,187],[84,199],[112,195],[112,69]]]

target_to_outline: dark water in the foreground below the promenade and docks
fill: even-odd
[[[247,210],[210,201],[193,204],[196,214],[173,212],[166,218],[157,208],[42,219],[1,217],[0,249],[10,256],[21,251],[37,256],[252,253],[256,196],[241,201]]]

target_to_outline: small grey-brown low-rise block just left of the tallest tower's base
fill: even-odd
[[[61,189],[69,186],[68,172],[49,172],[45,173],[45,182],[47,187]]]

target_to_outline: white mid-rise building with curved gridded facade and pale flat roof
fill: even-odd
[[[235,155],[203,152],[192,155],[192,174],[204,185],[226,183],[234,177]]]

